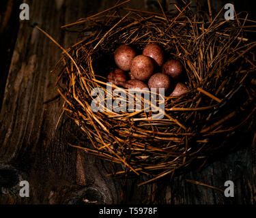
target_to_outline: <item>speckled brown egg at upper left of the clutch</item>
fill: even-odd
[[[116,65],[124,70],[130,70],[130,65],[132,64],[132,59],[136,56],[134,49],[130,46],[122,45],[115,50],[115,63]]]

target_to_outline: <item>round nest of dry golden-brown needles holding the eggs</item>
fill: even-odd
[[[246,14],[225,20],[193,13],[189,4],[174,14],[117,6],[63,27],[80,31],[81,37],[64,50],[55,68],[57,89],[65,99],[63,110],[92,148],[72,146],[122,164],[124,170],[115,174],[147,174],[153,181],[191,163],[205,163],[227,144],[224,139],[251,128],[256,42],[245,36],[255,22]],[[150,43],[182,62],[189,91],[165,97],[163,119],[150,119],[152,111],[143,110],[93,112],[91,91],[100,87],[106,92],[115,49],[128,44],[141,51]]]

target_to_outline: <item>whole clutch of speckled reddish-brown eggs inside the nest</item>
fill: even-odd
[[[121,45],[115,50],[114,59],[118,68],[107,76],[109,82],[125,89],[160,88],[171,97],[188,92],[182,81],[184,67],[179,60],[165,61],[165,52],[158,44],[148,44],[142,54],[134,48]]]

